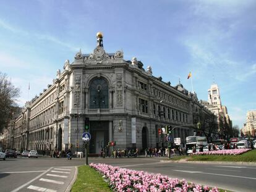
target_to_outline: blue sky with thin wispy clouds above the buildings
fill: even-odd
[[[106,52],[137,57],[155,77],[207,101],[216,83],[233,125],[256,109],[256,1],[3,1],[0,71],[20,88],[17,101],[43,92],[75,53],[91,53],[102,31]],[[30,90],[28,93],[28,84]]]

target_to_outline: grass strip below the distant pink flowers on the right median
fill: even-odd
[[[177,156],[171,158],[173,161],[179,161],[181,159],[187,158],[187,161],[233,161],[233,162],[256,162],[256,149],[249,152],[245,152],[241,155],[198,155],[198,156]]]

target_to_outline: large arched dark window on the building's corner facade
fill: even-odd
[[[90,84],[90,109],[108,109],[108,83],[96,78]]]

